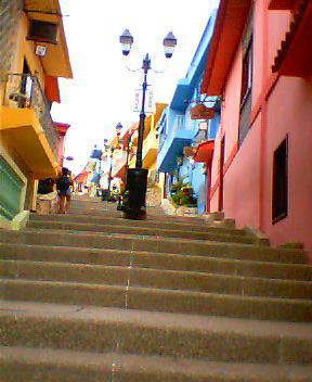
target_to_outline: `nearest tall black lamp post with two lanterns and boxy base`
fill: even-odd
[[[128,29],[126,29],[119,37],[121,43],[122,54],[128,55],[133,44],[133,37]],[[165,56],[170,59],[173,54],[177,46],[177,39],[170,31],[164,39]],[[145,129],[145,94],[147,88],[147,73],[152,68],[151,59],[146,53],[143,59],[142,67],[144,73],[144,80],[142,84],[142,105],[140,112],[140,124],[138,131],[138,148],[136,148],[136,160],[135,168],[127,168],[127,182],[123,194],[122,211],[126,218],[144,218],[146,214],[145,209],[145,198],[147,188],[147,174],[148,170],[142,168],[142,151],[143,151],[143,138]]]

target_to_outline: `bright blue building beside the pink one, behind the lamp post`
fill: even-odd
[[[165,196],[170,195],[172,183],[183,182],[193,188],[197,199],[198,213],[209,208],[206,205],[209,184],[209,155],[220,123],[220,105],[216,98],[205,100],[200,84],[205,63],[214,28],[217,11],[212,11],[194,54],[185,78],[178,81],[172,100],[162,112],[158,123],[159,148],[156,170],[165,174]],[[214,110],[212,119],[192,119],[196,105]],[[203,156],[203,143],[207,142],[207,155]],[[198,150],[200,154],[198,155]]]

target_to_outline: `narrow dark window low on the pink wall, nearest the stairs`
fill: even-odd
[[[272,222],[275,224],[287,216],[288,209],[288,136],[274,151]]]

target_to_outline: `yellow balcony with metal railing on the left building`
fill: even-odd
[[[36,76],[8,74],[0,133],[37,179],[55,176],[60,136]]]

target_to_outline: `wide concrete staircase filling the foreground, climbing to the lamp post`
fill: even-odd
[[[0,381],[311,382],[304,252],[148,212],[74,201],[0,230]]]

